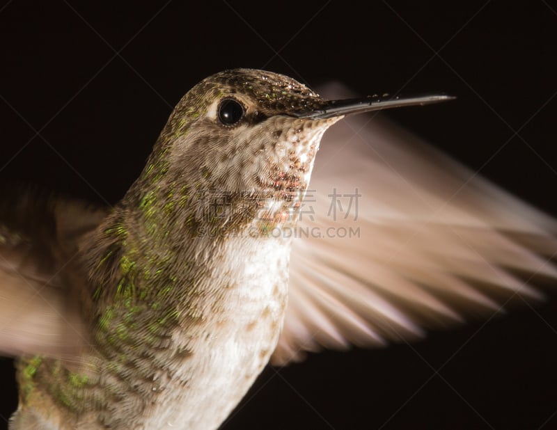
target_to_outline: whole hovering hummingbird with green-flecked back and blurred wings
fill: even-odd
[[[114,207],[7,191],[10,429],[216,429],[269,362],[499,309],[474,280],[539,298],[505,268],[557,278],[543,257],[553,218],[483,180],[462,186],[462,166],[390,146],[385,130],[365,142],[370,157],[348,137],[361,123],[342,121],[450,98],[325,99],[281,74],[227,70],[180,99]],[[336,122],[337,146],[320,149]],[[328,164],[313,175],[316,156]]]

